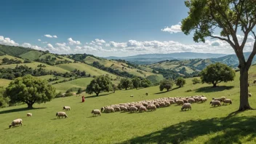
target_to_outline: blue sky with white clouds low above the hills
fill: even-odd
[[[224,41],[195,43],[192,34],[186,36],[180,30],[181,20],[188,16],[184,1],[1,1],[0,44],[100,57],[173,52],[233,54]],[[249,41],[245,51],[251,48]]]

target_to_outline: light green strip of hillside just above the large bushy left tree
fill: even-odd
[[[68,72],[66,71],[65,69],[63,68],[59,68],[57,66],[52,66],[52,65],[47,65],[47,64],[44,64],[44,63],[37,63],[37,62],[33,62],[33,63],[20,63],[18,65],[27,65],[28,67],[31,67],[31,68],[38,68],[37,65],[46,65],[46,67],[44,68],[45,70],[47,71],[57,71],[59,73],[65,73],[65,72]],[[17,64],[12,64],[12,65],[0,65],[0,68],[15,68]]]

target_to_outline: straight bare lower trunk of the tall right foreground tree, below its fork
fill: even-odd
[[[240,106],[239,111],[252,110],[248,102],[248,70],[240,68]]]

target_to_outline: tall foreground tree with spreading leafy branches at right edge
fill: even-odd
[[[248,71],[256,54],[254,40],[252,53],[244,57],[244,46],[251,35],[256,39],[256,0],[190,0],[185,1],[188,17],[182,20],[182,31],[193,40],[205,42],[205,38],[220,39],[231,45],[239,59],[240,106],[239,111],[252,109],[248,102]],[[219,34],[217,32],[220,32]],[[243,33],[239,41],[238,34]]]

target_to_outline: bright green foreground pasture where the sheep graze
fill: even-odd
[[[254,66],[249,73],[252,108],[256,108],[256,84],[252,84],[255,71]],[[71,83],[68,87],[72,87]],[[78,83],[85,86],[86,80]],[[239,73],[235,81],[218,84],[217,88],[193,85],[191,79],[186,79],[186,83],[185,87],[174,87],[169,92],[149,87],[103,93],[99,97],[85,95],[85,103],[81,103],[81,97],[72,96],[36,104],[33,110],[27,110],[26,105],[1,108],[0,140],[1,143],[256,143],[256,111],[233,113],[239,108]],[[186,92],[188,89],[191,92]],[[145,96],[145,92],[149,95]],[[146,113],[103,113],[97,117],[91,114],[92,109],[105,105],[203,94],[208,101],[192,104],[192,111],[180,111],[181,106],[171,105]],[[231,98],[233,104],[216,108],[209,105],[212,97],[222,96]],[[55,113],[63,111],[64,105],[71,106],[71,111],[66,112],[68,118],[57,119]],[[26,117],[28,112],[33,116]],[[9,129],[9,124],[17,118],[23,119],[23,127]]]

